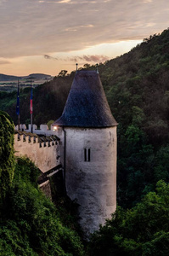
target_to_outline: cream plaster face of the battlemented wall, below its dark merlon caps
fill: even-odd
[[[42,148],[39,147],[39,143],[33,142],[33,137],[31,137],[31,143],[28,141],[28,137],[25,137],[25,142],[23,142],[23,135],[20,136],[18,140],[18,134],[14,135],[14,151],[16,156],[27,156],[30,158],[35,165],[42,171],[48,172],[50,169],[59,165],[60,159],[57,160],[59,155],[59,144],[52,145],[48,147],[48,142],[46,147],[42,143]]]

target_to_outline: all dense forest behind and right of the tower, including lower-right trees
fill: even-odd
[[[86,64],[83,68],[93,70],[96,66]],[[142,44],[127,54],[100,63],[98,68],[111,111],[119,124],[119,207],[91,238],[89,255],[167,255],[169,29],[144,38]],[[74,75],[75,72],[61,71],[53,81],[34,89],[35,124],[59,118]],[[29,97],[29,89],[20,90],[20,121],[26,124],[30,121]],[[16,124],[15,106],[16,92],[0,92],[0,109]]]

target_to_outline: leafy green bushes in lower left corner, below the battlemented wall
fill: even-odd
[[[1,209],[1,255],[83,255],[79,236],[61,223],[36,181],[37,167],[28,159],[18,159],[13,187]]]

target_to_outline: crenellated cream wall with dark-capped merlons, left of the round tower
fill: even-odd
[[[15,155],[27,156],[42,172],[48,172],[56,166],[59,166],[59,137],[54,135],[54,132],[53,135],[39,137],[37,131],[36,133],[28,131],[29,130],[15,131]],[[45,134],[45,132],[43,134]]]

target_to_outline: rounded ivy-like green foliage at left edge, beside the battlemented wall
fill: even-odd
[[[0,201],[14,177],[14,124],[7,113],[0,111]]]

